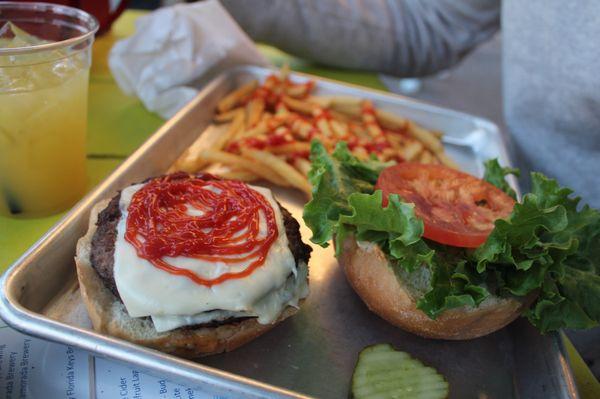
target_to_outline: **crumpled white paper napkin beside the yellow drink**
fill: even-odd
[[[198,93],[192,83],[234,65],[267,66],[252,40],[216,0],[160,8],[117,42],[109,66],[126,94],[170,118]]]

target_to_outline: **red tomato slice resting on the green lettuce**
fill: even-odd
[[[441,244],[477,248],[494,229],[494,221],[510,215],[515,201],[474,176],[440,165],[401,163],[384,169],[375,189],[398,194],[415,204],[423,220],[423,236]]]

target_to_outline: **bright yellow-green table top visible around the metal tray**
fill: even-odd
[[[133,33],[134,21],[142,13],[125,12],[112,30],[98,38],[94,44],[89,88],[87,150],[90,189],[108,176],[163,123],[160,117],[147,111],[137,98],[128,97],[119,90],[107,64],[108,51],[113,43]],[[273,47],[260,45],[259,48],[275,65],[287,62],[296,71],[385,90],[385,86],[374,74],[318,66]],[[0,216],[0,272],[17,260],[62,216],[63,214],[58,214],[36,219]],[[600,398],[600,383],[568,340],[567,347],[581,397]]]

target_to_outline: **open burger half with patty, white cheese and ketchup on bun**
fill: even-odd
[[[268,189],[174,173],[98,203],[75,260],[96,331],[193,358],[296,313],[310,252]]]

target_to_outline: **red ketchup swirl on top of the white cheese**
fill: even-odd
[[[157,178],[133,195],[128,213],[125,239],[139,257],[208,287],[252,274],[279,234],[271,204],[239,181],[185,174]],[[261,219],[266,233],[260,232]],[[177,256],[225,264],[252,262],[242,271],[206,279],[164,260]]]

